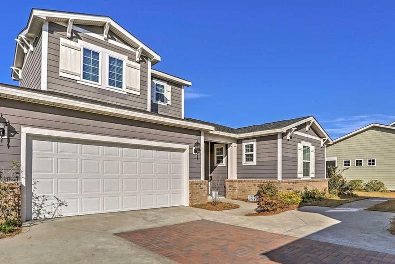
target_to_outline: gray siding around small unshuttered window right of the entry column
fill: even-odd
[[[256,165],[242,165],[242,141],[237,140],[237,178],[276,180],[277,135],[256,138]]]

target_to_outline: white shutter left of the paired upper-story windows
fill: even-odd
[[[59,75],[79,80],[81,75],[81,45],[60,38]]]

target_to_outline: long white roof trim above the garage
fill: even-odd
[[[163,125],[169,125],[175,127],[183,127],[183,128],[203,130],[203,131],[214,130],[214,127],[209,125],[189,122],[185,120],[172,119],[162,116],[154,116],[148,113],[141,113],[141,112],[126,110],[126,109],[118,109],[118,108],[103,106],[89,102],[80,102],[72,99],[62,98],[55,95],[46,95],[41,93],[15,89],[11,87],[0,86],[0,97],[20,100],[20,101],[29,101],[43,105],[51,105],[56,107],[74,109],[84,112],[98,113],[108,116],[141,120],[150,123],[163,124]]]

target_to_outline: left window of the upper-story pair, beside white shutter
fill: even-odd
[[[82,79],[99,83],[100,53],[83,48]]]

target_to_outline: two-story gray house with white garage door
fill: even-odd
[[[327,186],[331,139],[314,117],[185,118],[191,82],[152,69],[160,56],[109,17],[33,9],[16,41],[0,166],[21,163],[22,220],[205,202],[211,177],[230,198]]]

